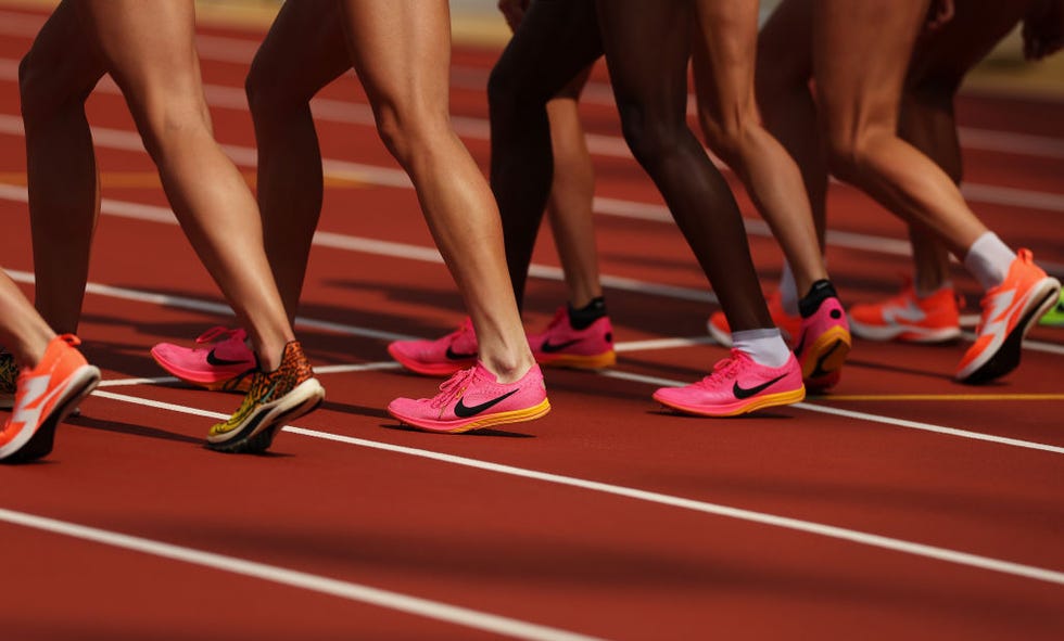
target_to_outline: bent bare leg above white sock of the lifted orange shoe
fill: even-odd
[[[927,0],[818,0],[814,75],[833,171],[963,257],[987,228],[957,185],[898,138],[905,67]]]

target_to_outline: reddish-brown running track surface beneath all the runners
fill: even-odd
[[[7,182],[25,170],[13,74],[39,22],[31,13],[0,15]],[[221,100],[239,97],[255,36],[204,34],[213,37],[204,44],[205,81],[226,90],[212,89],[217,134],[251,149],[246,111]],[[456,51],[453,106],[463,127],[468,118],[484,128],[480,87],[494,55]],[[606,151],[622,149],[612,107],[596,101],[601,92],[590,90],[586,125],[606,137]],[[319,116],[350,120],[366,111],[351,78],[324,98],[350,104],[319,103]],[[1006,242],[1030,246],[1060,275],[1061,104],[965,97],[959,108],[968,134],[1025,133],[1049,149],[1003,153],[968,136],[966,189]],[[105,86],[90,100],[90,121],[105,179],[152,170],[142,151],[104,131],[134,136],[121,97]],[[318,126],[327,158],[377,169],[363,171],[357,188],[327,191],[320,230],[342,236],[315,248],[301,315],[339,325],[297,330],[316,367],[385,363],[385,342],[357,328],[435,336],[459,320],[460,302],[444,267],[414,251],[431,241],[413,191],[378,184],[397,168],[373,128],[326,117]],[[483,136],[466,142],[484,163]],[[658,195],[626,153],[599,154],[596,163],[601,198],[661,216]],[[1009,192],[1019,201],[992,203],[989,187],[1023,191]],[[18,189],[2,194],[3,267],[30,272],[25,204]],[[154,185],[105,185],[103,195],[165,207]],[[900,223],[853,190],[836,188],[832,198],[834,230],[903,238]],[[676,416],[649,398],[653,377],[694,380],[724,354],[720,347],[634,345],[616,370],[630,379],[549,371],[555,409],[546,419],[467,437],[408,432],[384,414],[397,395],[429,395],[431,380],[388,368],[324,369],[328,401],[299,422],[306,432],[282,434],[270,456],[219,456],[201,447],[212,421],[203,412],[228,413],[238,397],[173,383],[114,384],[161,376],[148,356],[154,343],[188,342],[230,322],[220,311],[180,306],[221,299],[176,226],[114,211],[105,204],[91,282],[178,299],[99,290],[86,297],[80,335],[111,386],[64,425],[47,461],[0,467],[4,639],[560,639],[563,631],[1052,639],[1064,630],[1061,330],[1037,329],[1017,372],[974,389],[949,379],[964,345],[858,342],[832,397],[726,421]],[[597,225],[604,273],[705,292],[672,225],[606,213]],[[338,238],[363,239],[365,248],[326,242]],[[410,247],[384,255],[378,241]],[[556,266],[548,241],[535,261]],[[751,245],[763,275],[774,278],[774,243],[752,235]],[[831,247],[829,260],[850,302],[891,292],[895,274],[908,270],[903,256],[845,244]],[[972,281],[960,271],[957,280],[975,305]],[[712,310],[705,294],[608,287],[607,295],[622,344],[701,337]],[[562,296],[559,281],[533,279],[529,325],[545,322]],[[897,396],[912,394],[945,397]],[[105,531],[61,534],[53,522],[25,515]],[[152,542],[183,551],[144,547]],[[240,568],[236,560],[263,566]],[[268,574],[279,569],[305,575]],[[473,612],[430,616],[420,602],[413,611],[403,605],[404,595]],[[492,627],[478,613],[506,619]],[[516,627],[522,621],[552,629]]]

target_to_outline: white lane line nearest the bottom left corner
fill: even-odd
[[[246,559],[227,556],[195,548],[164,543],[153,539],[79,525],[58,518],[38,516],[36,514],[27,514],[25,512],[16,512],[14,510],[5,510],[3,508],[0,508],[0,521],[83,541],[91,541],[112,548],[140,552],[151,556],[180,561],[191,565],[251,577],[309,592],[339,597],[349,601],[376,605],[385,610],[393,610],[476,630],[494,632],[515,639],[530,639],[535,641],[591,641],[595,639],[594,637],[578,634],[568,630],[541,626],[506,616],[451,605],[440,601],[419,599],[363,584],[248,561]]]

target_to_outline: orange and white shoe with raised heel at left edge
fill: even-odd
[[[100,370],[75,349],[80,344],[73,334],[56,336],[36,368],[23,368],[14,410],[0,430],[0,461],[33,461],[51,452],[55,426],[96,388]]]

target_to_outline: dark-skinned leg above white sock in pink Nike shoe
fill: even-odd
[[[596,7],[633,155],[664,196],[732,329],[772,328],[738,206],[686,124],[692,7],[681,0]]]

